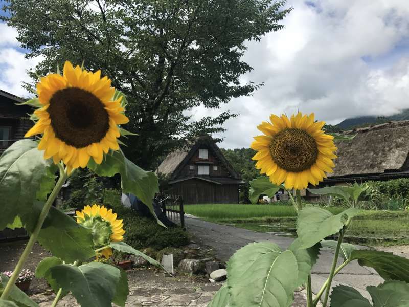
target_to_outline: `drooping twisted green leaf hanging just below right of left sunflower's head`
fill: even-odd
[[[132,193],[148,206],[152,215],[156,218],[158,224],[165,227],[158,220],[155,210],[153,209],[152,199],[159,191],[158,182],[155,174],[146,171],[126,159],[121,151],[110,151],[105,156],[102,164],[96,164],[90,160],[88,168],[92,169],[98,176],[112,177],[116,173],[121,174],[122,191]]]

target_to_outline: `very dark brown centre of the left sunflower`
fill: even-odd
[[[78,87],[55,92],[47,111],[56,137],[76,148],[98,143],[109,129],[104,104]]]

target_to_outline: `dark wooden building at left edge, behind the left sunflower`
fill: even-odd
[[[28,105],[16,105],[24,100],[0,90],[0,154],[14,142],[24,139],[26,132],[33,126]]]

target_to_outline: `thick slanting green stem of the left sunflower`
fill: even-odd
[[[34,243],[37,241],[38,234],[40,233],[44,220],[46,220],[48,211],[50,210],[51,205],[53,204],[55,198],[57,197],[58,192],[61,190],[61,187],[65,182],[66,172],[64,171],[64,168],[61,164],[57,165],[58,168],[60,169],[60,178],[58,179],[58,182],[55,185],[46,203],[42,207],[41,213],[38,216],[37,224],[35,225],[35,228],[30,236],[29,242],[27,243],[24,251],[22,252],[21,257],[18,260],[16,267],[14,268],[13,274],[11,275],[9,281],[7,282],[6,287],[4,288],[2,296],[0,296],[0,299],[7,300],[7,298],[9,297],[10,291],[13,289],[13,286],[21,273],[21,270],[27,258],[29,257],[31,250],[33,249]]]

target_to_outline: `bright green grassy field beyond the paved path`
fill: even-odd
[[[345,208],[325,208],[338,214]],[[296,211],[283,205],[186,205],[185,211],[203,220],[259,232],[296,234]],[[409,211],[363,211],[348,229],[346,240],[365,245],[409,244]]]

